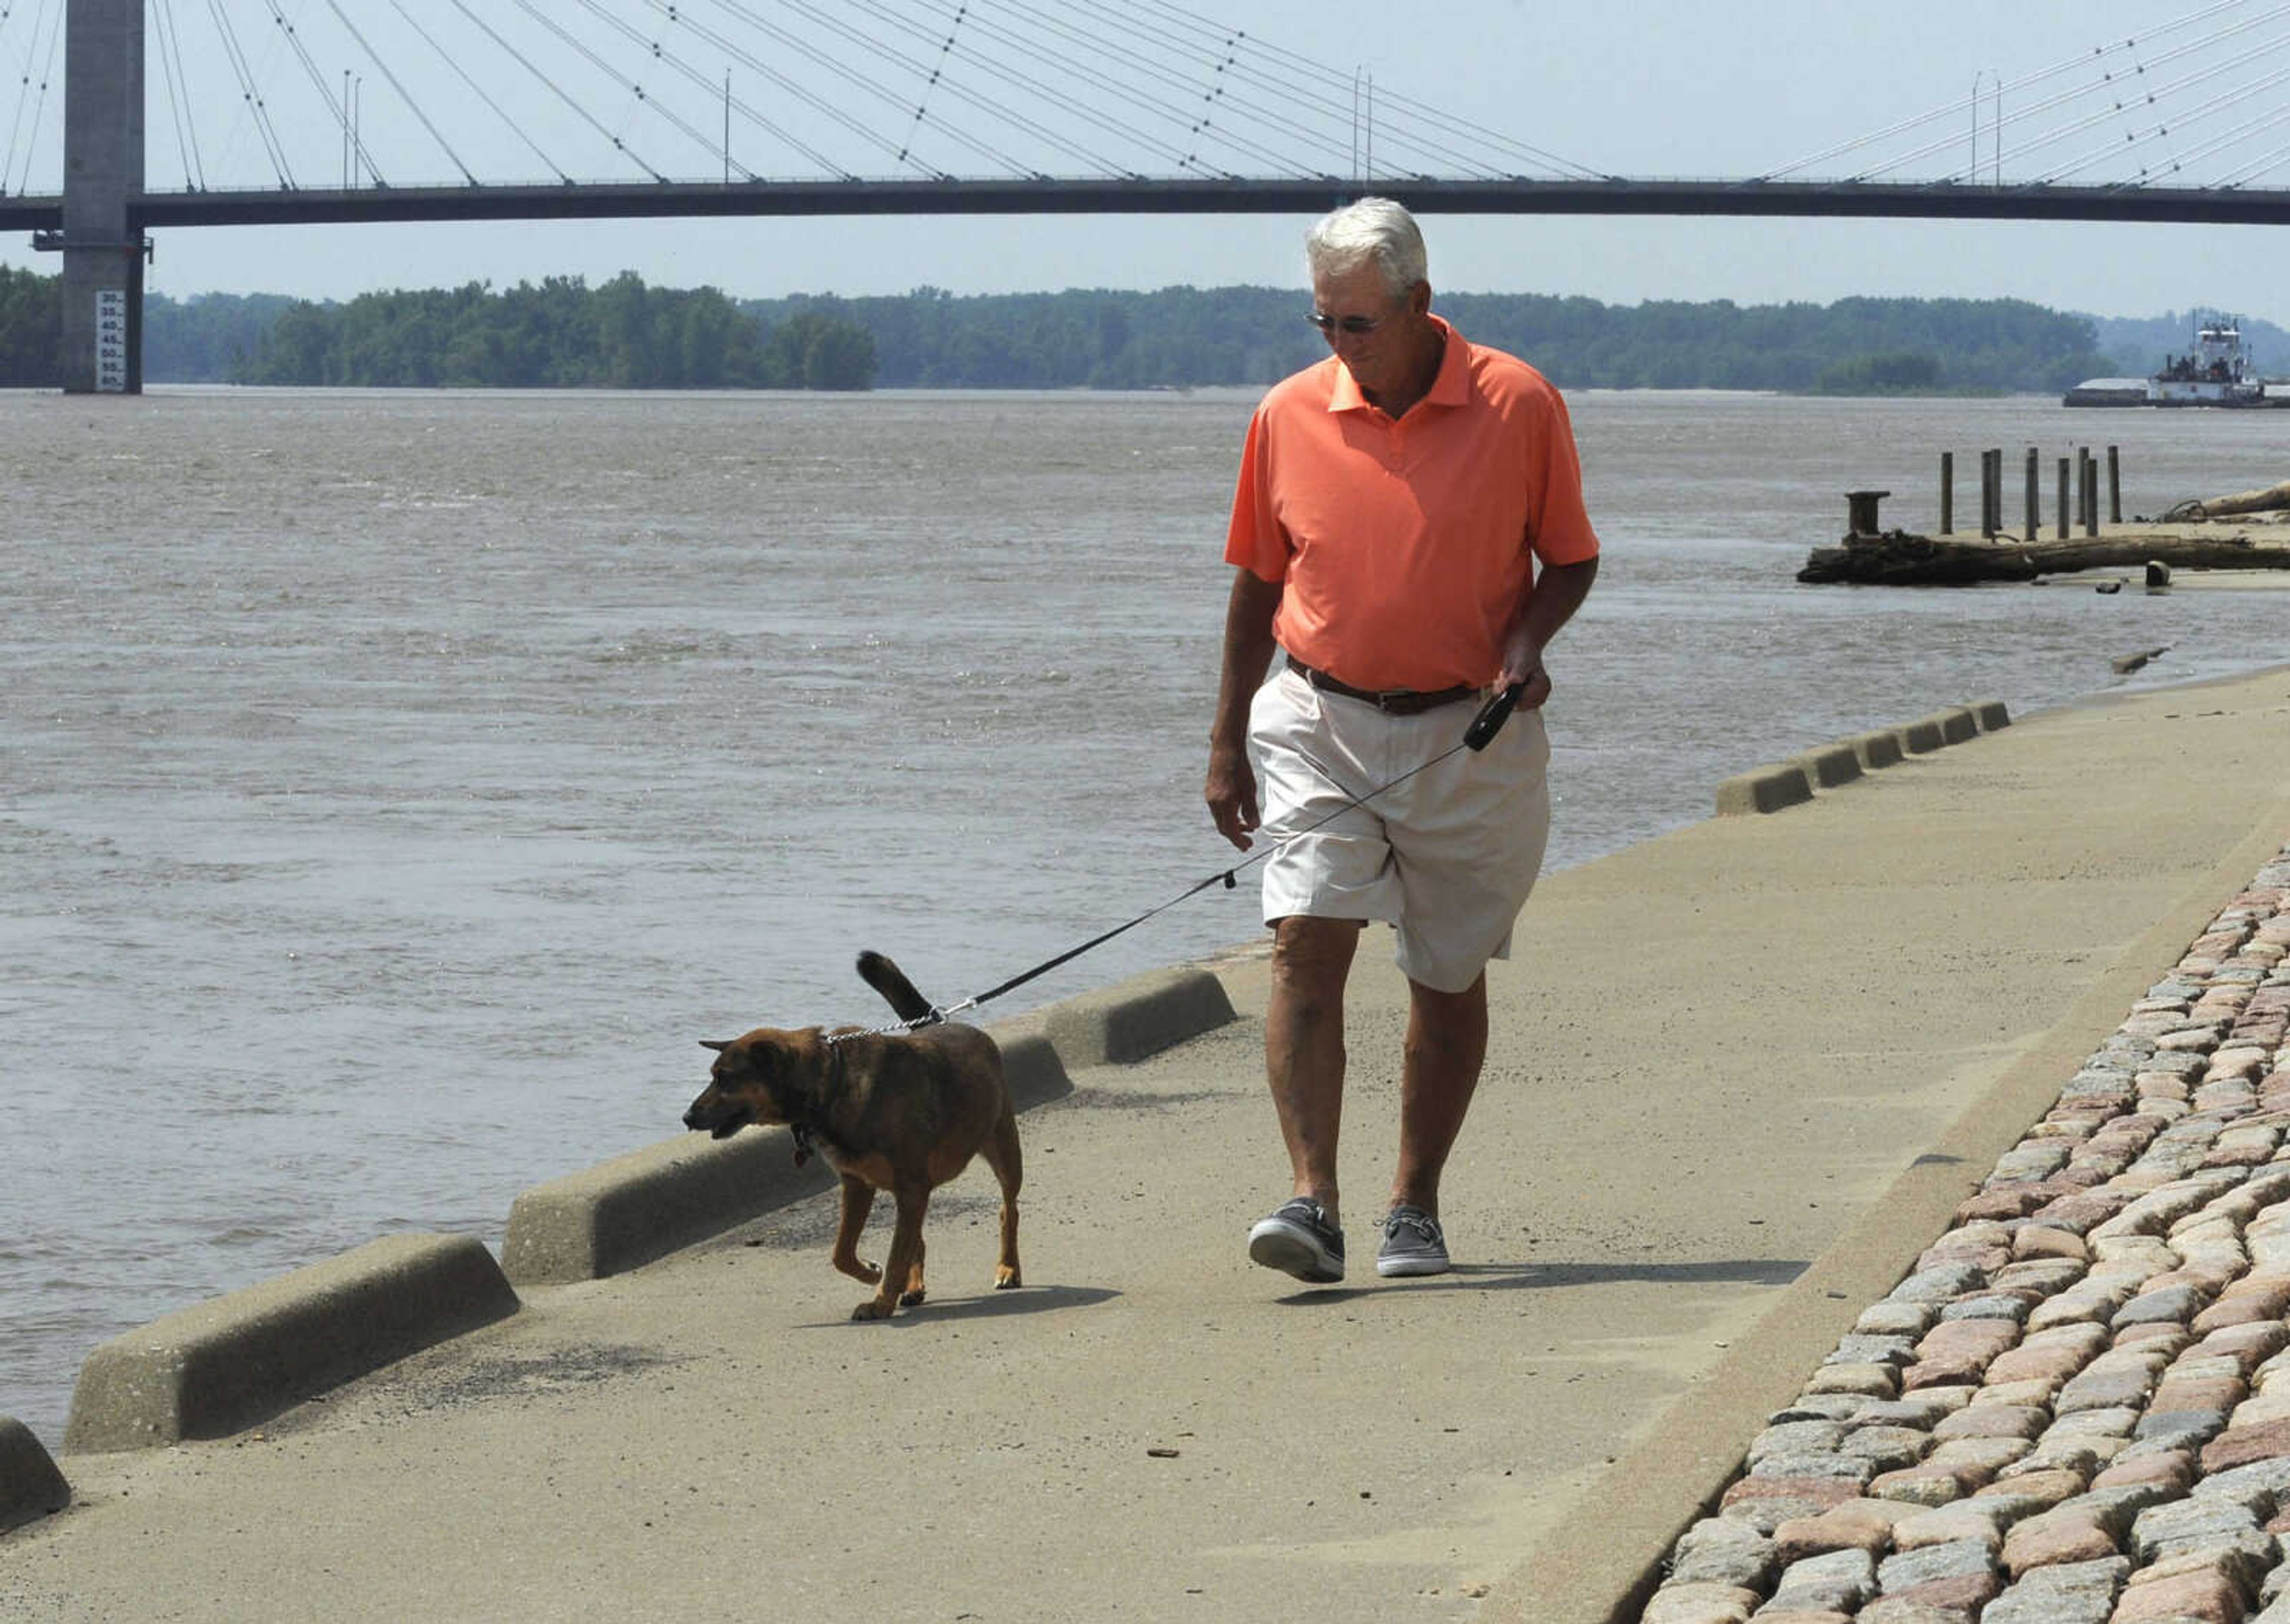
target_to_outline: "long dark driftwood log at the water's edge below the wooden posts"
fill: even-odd
[[[1846,536],[1841,547],[1814,547],[1798,580],[1859,586],[1976,586],[2075,570],[2137,570],[2150,561],[2176,570],[2290,570],[2290,536],[2141,531],[2024,543],[1953,541],[1887,529],[1882,536]]]

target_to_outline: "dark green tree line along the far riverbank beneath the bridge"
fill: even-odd
[[[0,268],[0,385],[57,378],[55,277]],[[1447,293],[1468,337],[1571,389],[1827,394],[2061,392],[2143,357],[2100,353],[2088,316],[2022,300],[1830,305]],[[1154,389],[1269,385],[1326,355],[1294,289],[1069,289],[957,298],[731,300],[547,277],[348,302],[199,295],[144,302],[151,383],[609,389]]]

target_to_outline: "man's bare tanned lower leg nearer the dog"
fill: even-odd
[[[1344,980],[1358,944],[1356,919],[1294,914],[1273,923],[1264,1077],[1296,1175],[1294,1193],[1317,1200],[1328,1223],[1340,1221],[1335,1141],[1344,1118]]]

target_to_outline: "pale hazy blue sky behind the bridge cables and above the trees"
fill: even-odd
[[[46,55],[46,34],[37,32],[41,18],[27,14],[60,5],[14,0],[0,16],[0,121],[14,119],[9,147],[0,149],[14,170],[0,167],[0,190],[39,192],[57,183],[60,135],[46,131],[60,131],[62,73],[46,66],[53,57]],[[1067,27],[1095,32],[1099,46],[1122,50],[1115,37],[1120,16],[1150,9],[1143,0],[1127,11],[1124,5],[971,0],[962,27],[973,41],[996,25],[1021,34],[1030,30],[1033,39],[1047,39],[1044,27]],[[545,76],[524,69],[550,41],[527,44],[527,55],[513,60],[456,21],[456,0],[387,0],[350,9],[350,16],[364,18],[373,57],[357,55],[341,39],[334,18],[344,11],[332,0],[279,0],[279,7],[298,23],[291,39],[275,25],[268,0],[220,0],[220,7],[153,0],[153,27],[172,25],[179,41],[172,60],[181,62],[183,103],[192,110],[199,153],[197,160],[188,156],[192,147],[172,103],[169,57],[153,48],[147,73],[153,190],[181,188],[195,172],[208,186],[277,183],[261,128],[247,112],[245,85],[231,76],[211,25],[218,9],[240,18],[238,50],[254,69],[254,96],[273,115],[298,183],[341,181],[341,121],[321,110],[309,92],[314,85],[339,87],[344,71],[355,80],[360,135],[376,167],[396,183],[458,181],[456,167],[504,181],[547,179],[547,170],[572,179],[641,179],[630,167],[637,151],[646,153],[646,170],[717,179],[719,140],[710,151],[650,119],[650,110],[669,108],[676,94],[666,66],[648,60],[643,44],[673,34],[662,32],[666,7],[657,0],[566,0],[552,7],[593,30],[589,50],[618,76],[595,78],[577,98],[556,96]],[[856,174],[902,172],[886,147],[838,151],[831,142],[847,133],[834,126],[836,110],[854,115],[877,144],[911,140],[911,149],[923,151],[939,137],[939,126],[911,121],[886,103],[870,105],[861,87],[811,66],[802,53],[806,39],[827,39],[820,30],[838,21],[911,16],[927,23],[934,14],[950,18],[955,0],[698,0],[687,2],[682,14],[717,9],[726,18],[719,39],[744,39],[740,50],[710,55],[708,44],[689,34],[682,46],[669,39],[671,50],[682,50],[680,60],[696,69],[694,82],[717,85],[728,71],[742,110],[753,105],[779,128],[811,137],[808,151]],[[1347,128],[1330,144],[1312,147],[1321,153],[1317,160],[1333,170],[1351,165],[1358,172],[1363,128],[1381,135],[1376,153],[1390,160],[1404,128],[1397,105],[1411,98],[1555,153],[1566,165],[1626,176],[1770,174],[1933,115],[1889,147],[1859,147],[1800,174],[1853,174],[1855,165],[1914,151],[1919,142],[1930,151],[1910,158],[1896,174],[1965,174],[1979,151],[1990,172],[2001,160],[2006,179],[2027,179],[2086,151],[2116,153],[2068,176],[2091,181],[2114,179],[2125,165],[2162,167],[2173,158],[2201,170],[2192,156],[2249,124],[2249,135],[2208,158],[2203,179],[2219,179],[2235,165],[2263,165],[2281,147],[2281,167],[2260,172],[2251,183],[2290,186],[2290,89],[2263,94],[2253,80],[2290,66],[2290,5],[2274,0],[2013,0],[2006,7],[1992,0],[1921,0],[1917,7],[1857,0],[1434,0],[1413,7],[1390,0],[1189,0],[1186,9],[1205,18],[1202,41],[1246,34],[1230,53],[1234,64],[1269,60],[1250,53],[1278,48],[1321,64],[1330,82],[1374,87],[1379,112],[1372,124],[1347,112]],[[479,11],[508,37],[520,9]],[[733,16],[760,23],[735,34]],[[433,48],[424,50],[426,41],[401,18],[426,23]],[[889,30],[879,21],[868,25]],[[463,27],[465,39],[456,41],[451,27]],[[955,37],[962,37],[960,30]],[[552,48],[563,53],[568,46],[556,41]],[[2173,57],[2173,50],[2180,55]],[[298,55],[307,55],[309,64],[300,64]],[[861,46],[840,48],[845,62],[868,55]],[[943,85],[927,92],[937,110],[964,112],[971,128],[992,128],[992,117],[973,117],[950,101],[962,85],[982,85],[976,76],[964,78],[969,69],[955,53],[925,46],[914,60],[943,69]],[[570,71],[579,66],[570,57],[566,62],[572,66],[559,85],[570,85]],[[767,71],[779,69],[827,105],[806,108],[797,89],[772,85]],[[2061,73],[2038,78],[2047,69]],[[1163,73],[1159,82],[1170,89],[1154,94],[1168,105],[1189,103],[1200,85],[1239,89],[1211,66],[1172,71],[1179,78],[1191,73],[1193,82],[1179,85]],[[2079,82],[2098,85],[2102,71],[2111,78],[2107,89],[2095,92],[2098,101],[2084,96],[2038,112],[2052,94]],[[48,73],[53,82],[41,94],[37,85]],[[872,73],[875,82],[895,89],[895,64],[877,60]],[[1150,50],[1136,48],[1115,73],[1150,87],[1161,69]],[[387,82],[392,76],[405,87],[403,98]],[[623,78],[643,85],[650,103]],[[1072,71],[1060,78],[1076,85]],[[1076,89],[1085,101],[1113,108],[1108,87]],[[2157,89],[2166,94],[2146,103],[2143,96]],[[298,94],[309,103],[300,112]],[[682,94],[694,98],[685,105],[687,124],[719,131],[721,89]],[[1335,94],[1351,101],[1344,89]],[[511,110],[518,133],[476,117],[483,112],[479,103],[490,96]],[[1207,105],[1214,92],[1198,89],[1198,98]],[[575,101],[586,112],[575,115]],[[1282,117],[1280,101],[1260,96],[1257,103],[1262,117]],[[2006,117],[2001,128],[1999,103]],[[405,117],[408,105],[444,126],[449,140],[426,140]],[[1024,92],[1003,92],[1003,105],[1056,121]],[[1223,115],[1218,108],[1214,117]],[[2276,124],[2276,117],[2283,121]],[[2070,128],[2079,119],[2088,119],[2088,128],[2022,153],[2022,142],[2034,135]],[[1227,124],[1239,128],[1234,119]],[[623,137],[621,149],[607,144],[611,135]],[[1470,151],[1482,151],[1477,140],[1466,142]],[[1063,149],[1037,156],[1021,151],[1014,137],[1003,144],[1003,137],[989,135],[989,142],[998,151],[1017,151],[1026,165],[1083,172],[1081,163],[1060,156]],[[451,160],[440,156],[440,147],[451,149]],[[1328,151],[1335,156],[1326,158]],[[744,115],[733,153],[742,167],[767,176],[822,174],[808,158],[749,131]],[[943,144],[930,163],[955,174],[994,172],[973,153]],[[1156,160],[1118,156],[1118,163],[1154,170]],[[1223,163],[1243,167],[1230,156]],[[1518,167],[1511,158],[1498,163]],[[1170,167],[1163,163],[1159,172]],[[1305,224],[1303,215],[1175,215],[208,227],[165,231],[147,286],[176,298],[206,291],[350,298],[389,286],[515,284],[545,275],[598,282],[621,270],[666,286],[710,284],[740,298],[905,293],[923,284],[953,293],[1303,286],[1298,241]],[[2290,325],[2290,284],[2281,273],[2290,238],[2272,227],[1427,215],[1424,231],[1434,286],[1454,291],[1562,293],[1617,305],[2027,298],[2102,316],[2224,307]],[[0,263],[55,268],[27,241],[0,241]]]

